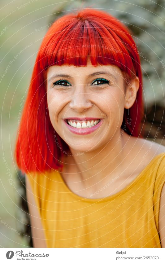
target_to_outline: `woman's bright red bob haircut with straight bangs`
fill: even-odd
[[[68,149],[49,118],[46,73],[52,65],[86,66],[88,59],[93,66],[115,65],[122,71],[125,87],[139,77],[136,101],[130,109],[124,109],[121,128],[131,136],[142,137],[142,73],[131,34],[115,17],[89,8],[52,23],[37,54],[16,140],[15,160],[23,173],[63,167],[60,159]],[[127,118],[132,119],[131,123]]]

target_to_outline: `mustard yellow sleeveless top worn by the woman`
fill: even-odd
[[[161,248],[158,216],[165,152],[127,187],[105,198],[76,195],[58,170],[27,176],[48,248]]]

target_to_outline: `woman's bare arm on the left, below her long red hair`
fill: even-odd
[[[28,177],[25,175],[26,196],[30,215],[32,240],[34,248],[47,248],[41,218],[37,209],[36,201]]]

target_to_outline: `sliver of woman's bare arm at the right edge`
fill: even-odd
[[[159,235],[162,248],[165,248],[165,184],[162,189],[160,198],[160,211],[159,211]]]

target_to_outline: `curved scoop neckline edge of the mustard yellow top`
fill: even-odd
[[[141,173],[139,173],[137,175],[137,177],[130,182],[126,187],[124,187],[124,189],[120,190],[119,192],[113,194],[113,195],[109,195],[106,197],[102,197],[102,198],[86,198],[86,197],[82,197],[80,195],[77,195],[76,193],[72,192],[70,190],[70,188],[67,186],[67,184],[65,183],[65,181],[63,180],[60,172],[58,170],[55,170],[60,178],[61,183],[63,183],[63,187],[67,190],[67,193],[69,193],[70,195],[72,195],[74,198],[79,199],[79,201],[85,201],[88,203],[101,203],[101,202],[107,202],[110,201],[112,199],[115,199],[116,197],[119,197],[120,195],[122,195],[123,193],[125,193],[126,191],[128,191],[132,186],[134,186],[143,176],[143,174],[146,172],[147,169],[150,168],[150,166],[153,164],[153,162],[155,160],[157,160],[159,158],[159,156],[164,155],[164,152],[158,154],[157,156],[155,156],[150,162],[149,164],[147,164],[147,166],[145,166],[145,168],[141,171]],[[54,170],[53,170],[54,172]]]

